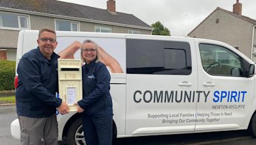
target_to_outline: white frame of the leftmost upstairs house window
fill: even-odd
[[[4,27],[4,26],[0,26],[0,29],[16,30],[16,31],[30,30],[30,29],[31,29],[30,17],[29,17],[29,15],[0,11],[0,15],[1,15],[1,14],[16,15],[16,16],[17,16],[18,26],[19,26],[19,27]],[[22,18],[26,18],[26,22],[27,22],[27,27],[28,27],[28,28],[22,28],[22,27],[21,27],[21,24],[20,24],[20,18],[21,18],[21,17],[22,17]]]

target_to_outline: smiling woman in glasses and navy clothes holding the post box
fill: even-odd
[[[98,45],[85,40],[81,51],[83,100],[77,102],[82,114],[86,144],[112,144],[113,107],[109,93],[110,74],[99,61]]]

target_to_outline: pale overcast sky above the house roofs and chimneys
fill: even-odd
[[[106,9],[107,0],[60,0]],[[236,0],[115,0],[116,11],[132,14],[148,25],[160,21],[172,36],[187,36],[217,7],[233,11]],[[256,20],[256,0],[239,0],[242,15]]]

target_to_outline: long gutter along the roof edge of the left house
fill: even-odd
[[[48,14],[48,13],[40,13],[40,12],[36,12],[36,11],[17,10],[17,9],[13,9],[13,8],[3,8],[3,7],[0,7],[0,10],[9,11],[12,13],[24,13],[27,15],[40,15],[40,16],[44,16],[44,17],[52,17],[52,18],[59,18],[59,19],[63,18],[66,20],[77,20],[77,21],[81,21],[81,22],[90,22],[90,23],[105,24],[105,25],[116,25],[116,26],[121,26],[121,27],[129,27],[129,28],[144,29],[144,30],[152,31],[151,27],[120,24],[120,23],[115,23],[115,22],[93,20],[93,19],[88,19],[88,18],[68,17],[68,16],[63,16],[63,15],[54,15],[54,14]]]

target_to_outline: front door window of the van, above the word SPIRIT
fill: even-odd
[[[242,59],[236,53],[217,45],[200,44],[204,70],[214,76],[243,76]]]

